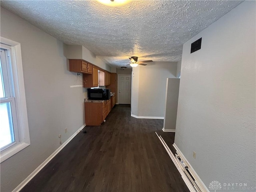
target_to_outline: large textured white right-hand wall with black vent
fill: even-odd
[[[175,144],[206,186],[255,187],[255,8],[243,2],[183,46]]]

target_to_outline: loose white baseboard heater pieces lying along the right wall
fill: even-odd
[[[180,154],[176,151],[176,154],[171,152],[170,148],[162,138],[162,136],[159,136],[157,133],[156,135],[158,136],[159,140],[162,142],[164,148],[166,149],[168,155],[172,159],[172,162],[180,172],[180,175],[182,179],[184,180],[186,186],[190,190],[190,192],[204,192],[204,188],[200,185],[199,182],[197,182],[194,178],[194,176],[190,172],[190,168],[186,165],[184,160],[182,160],[180,157]],[[175,146],[174,146],[175,147]]]

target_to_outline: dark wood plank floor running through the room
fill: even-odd
[[[86,126],[21,192],[189,191],[155,134],[163,120],[136,119],[115,106],[101,126]],[[169,134],[169,135],[168,135]]]

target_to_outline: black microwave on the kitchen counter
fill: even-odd
[[[88,90],[88,99],[90,100],[109,100],[110,99],[110,90],[109,89],[87,89]]]

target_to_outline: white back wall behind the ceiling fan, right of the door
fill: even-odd
[[[138,114],[133,115],[164,118],[166,78],[176,78],[177,62],[152,62],[136,68]]]

